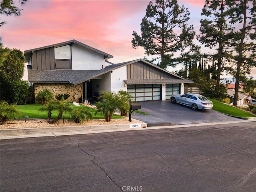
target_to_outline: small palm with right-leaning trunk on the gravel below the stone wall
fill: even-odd
[[[54,105],[56,107],[56,111],[58,111],[59,114],[55,119],[53,119],[49,122],[50,124],[59,121],[60,118],[62,118],[62,116],[64,118],[64,114],[68,114],[68,113],[73,112],[73,104],[70,103],[70,102],[67,102],[65,100],[56,102],[56,103],[54,103]]]

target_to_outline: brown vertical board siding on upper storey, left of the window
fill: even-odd
[[[33,70],[54,70],[54,47],[35,50],[32,54]]]

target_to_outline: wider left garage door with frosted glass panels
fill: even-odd
[[[127,91],[136,101],[161,100],[160,84],[127,85]]]

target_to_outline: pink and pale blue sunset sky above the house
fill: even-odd
[[[149,0],[29,0],[21,16],[1,15],[4,47],[24,52],[32,48],[78,40],[114,56],[110,62],[144,58],[143,48],[132,48],[132,32],[140,33],[140,23]],[[198,34],[204,0],[179,0],[190,11],[189,24]],[[195,42],[197,42],[195,40]],[[205,49],[203,52],[211,50]],[[172,69],[169,69],[173,71]],[[256,70],[252,71],[256,76]]]

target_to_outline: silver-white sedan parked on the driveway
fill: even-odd
[[[189,106],[193,110],[212,109],[213,107],[212,102],[200,94],[187,93],[183,95],[172,95],[170,100],[172,103]]]

